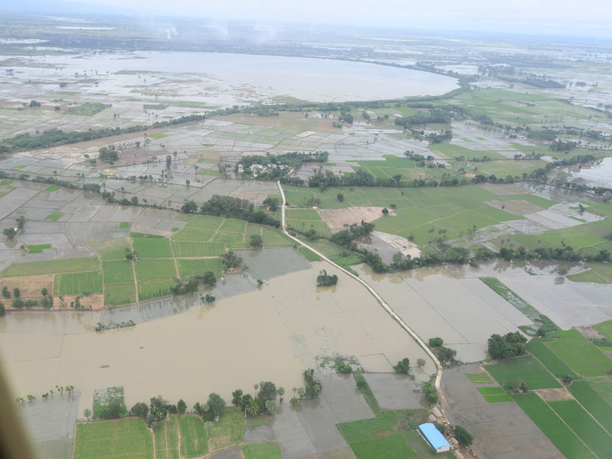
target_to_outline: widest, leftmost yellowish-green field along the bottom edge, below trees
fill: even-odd
[[[153,459],[153,440],[143,419],[76,424],[74,459]]]

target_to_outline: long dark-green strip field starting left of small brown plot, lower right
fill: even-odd
[[[569,459],[596,459],[537,394],[530,392],[529,394],[514,395],[512,398],[565,457]]]

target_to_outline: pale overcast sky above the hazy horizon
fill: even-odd
[[[26,0],[27,1],[27,0]],[[612,37],[610,0],[67,0],[138,15]],[[53,2],[48,5],[51,6]]]

